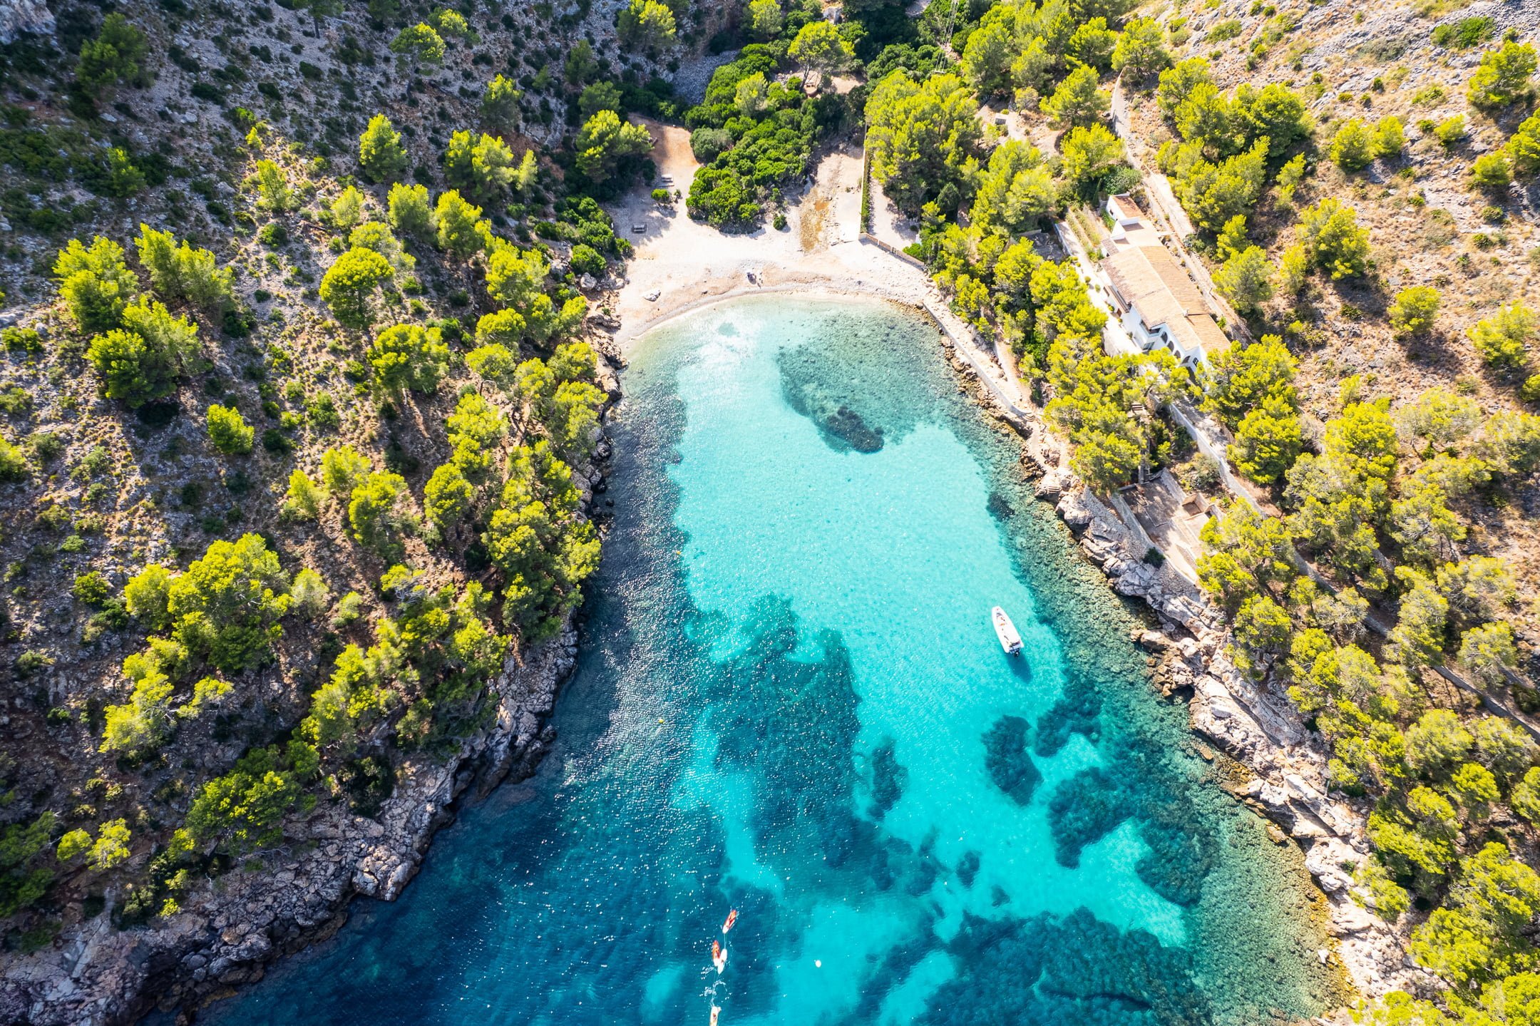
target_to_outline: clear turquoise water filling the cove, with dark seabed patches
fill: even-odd
[[[209,1020],[705,1023],[715,984],[724,1026],[1166,1026],[1334,997],[1297,855],[1207,780],[932,327],[747,299],[653,331],[625,382],[557,750]]]

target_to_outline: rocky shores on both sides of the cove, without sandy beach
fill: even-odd
[[[1066,442],[987,387],[978,365],[987,356],[958,353],[956,325],[946,324],[946,311],[929,305],[921,311],[941,324],[941,342],[966,390],[1023,438],[1026,473],[1043,478],[1040,498],[1055,502],[1084,556],[1113,590],[1141,599],[1157,618],[1158,630],[1140,632],[1135,641],[1152,656],[1155,686],[1170,699],[1186,699],[1192,730],[1244,770],[1244,780],[1227,790],[1275,826],[1277,841],[1304,850],[1337,938],[1329,957],[1341,961],[1368,998],[1437,986],[1406,957],[1406,932],[1355,900],[1348,866],[1369,852],[1368,809],[1326,793],[1320,739],[1298,723],[1284,695],[1234,667],[1223,613],[1169,567],[1140,558],[1133,531],[1063,465]],[[602,334],[596,348],[624,365]],[[601,365],[601,384],[611,397],[619,394],[610,367]],[[608,454],[607,442],[599,454]],[[590,511],[602,481],[601,467],[590,467],[584,488]],[[460,800],[484,796],[539,766],[553,741],[547,719],[576,662],[576,642],[568,621],[559,638],[522,659],[510,658],[493,681],[491,726],[444,763],[403,764],[377,818],[322,807],[291,830],[285,858],[259,872],[220,877],[165,923],[117,930],[109,915],[99,915],[60,944],[14,960],[0,977],[0,1021],[119,1026],[157,1008],[191,1021],[203,1004],[260,980],[276,960],[336,934],[353,898],[394,900],[417,873],[434,833],[454,820]]]

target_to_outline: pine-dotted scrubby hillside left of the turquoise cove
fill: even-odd
[[[11,944],[374,815],[598,562],[579,277],[651,139],[582,108],[658,65],[579,12],[279,6],[62,5],[63,49],[0,51]]]

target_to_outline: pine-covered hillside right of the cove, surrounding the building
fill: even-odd
[[[1329,744],[1329,787],[1368,815],[1358,900],[1411,917],[1412,957],[1451,984],[1368,1017],[1520,1021],[1540,980],[1540,747],[1523,719],[1540,709],[1540,248],[1511,183],[1540,166],[1534,40],[1454,17],[1431,40],[1469,49],[1466,71],[1380,68],[1377,42],[1314,57],[1329,18],[1303,35],[1298,11],[1181,6],[1150,22],[1010,0],[950,22],[932,5],[921,32],[949,26],[936,42],[956,60],[869,63],[872,174],[918,220],[910,251],[953,310],[1010,344],[1092,490],[1177,465],[1223,493],[1161,408],[1212,417],[1250,487],[1203,531],[1201,587],[1237,666],[1287,690]],[[1115,71],[1144,153],[1112,131]],[[987,125],[984,103],[1009,117]],[[1112,222],[1096,206],[1158,203],[1130,157],[1167,176],[1192,223],[1172,243],[1235,317],[1192,373],[1103,345],[1086,270]],[[1477,196],[1480,230],[1434,206],[1451,193]],[[1086,262],[1040,256],[1055,220]]]

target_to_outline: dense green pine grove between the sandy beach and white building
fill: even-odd
[[[955,71],[898,66],[865,102],[872,174],[919,219],[912,251],[958,314],[999,333],[1023,373],[1043,381],[1047,417],[1073,442],[1075,471],[1096,488],[1184,454],[1186,439],[1163,416],[1135,411],[1158,411],[1194,388],[1167,354],[1107,356],[1106,314],[1073,260],[1044,259],[1033,242],[1055,217],[1138,182],[1103,120],[1103,79],[1113,65],[1147,77],[1169,52],[1138,20],[1123,45],[1109,18],[1121,23],[1118,11],[995,5],[953,35]],[[1061,125],[1058,151],[986,129],[979,100],[995,96]]]

